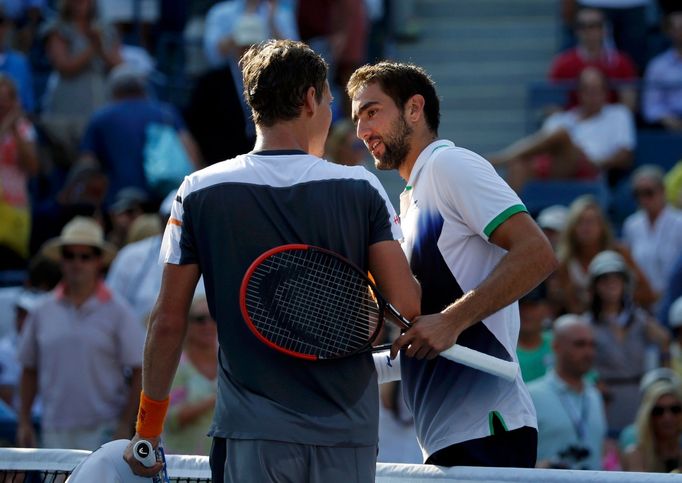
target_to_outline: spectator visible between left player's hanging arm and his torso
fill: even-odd
[[[189,309],[187,337],[170,391],[164,442],[168,453],[207,456],[218,377],[218,330],[204,295]]]

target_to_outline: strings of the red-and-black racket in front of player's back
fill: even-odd
[[[246,306],[267,339],[318,357],[364,347],[380,321],[366,280],[335,257],[312,250],[266,259],[251,275]]]

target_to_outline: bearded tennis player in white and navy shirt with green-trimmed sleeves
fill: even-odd
[[[516,300],[556,266],[518,196],[481,156],[438,138],[439,101],[419,67],[381,62],[348,82],[357,136],[379,169],[407,181],[402,247],[422,314],[398,337],[403,394],[427,463],[535,464],[535,410],[514,381],[436,357],[455,342],[516,360]]]

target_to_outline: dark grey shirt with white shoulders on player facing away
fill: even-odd
[[[215,434],[374,444],[376,428],[368,424],[377,411],[371,358],[310,363],[277,353],[242,321],[239,288],[253,260],[287,243],[322,246],[367,269],[369,246],[399,234],[376,178],[364,168],[303,152],[268,152],[199,171],[178,195],[181,205],[176,203],[171,223],[182,227],[173,232],[179,240],[169,261],[199,264],[219,327],[219,389],[225,397],[216,408]],[[301,417],[310,418],[308,427],[301,428]]]

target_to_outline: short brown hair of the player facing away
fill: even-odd
[[[315,88],[322,101],[327,63],[310,47],[293,40],[267,40],[253,45],[239,61],[244,97],[258,125],[272,126],[301,114],[306,92]]]

